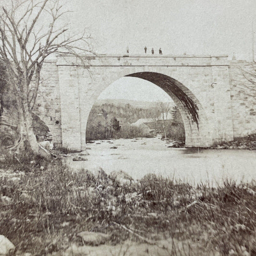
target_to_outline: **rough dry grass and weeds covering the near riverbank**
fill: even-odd
[[[111,234],[110,244],[171,237],[197,244],[205,255],[256,255],[254,183],[193,187],[151,174],[128,186],[103,170],[98,177],[74,173],[60,159],[20,157],[2,166],[23,171],[19,180],[4,177],[0,183],[0,196],[10,198],[0,201],[0,234],[17,251],[46,255],[83,245],[76,234],[95,231]]]

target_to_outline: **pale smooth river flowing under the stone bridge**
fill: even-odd
[[[117,148],[110,148],[110,147]],[[106,173],[125,171],[134,179],[155,173],[196,185],[216,186],[226,179],[236,182],[256,180],[256,151],[244,149],[171,148],[160,138],[118,139],[88,144],[87,161],[67,163],[74,169]]]

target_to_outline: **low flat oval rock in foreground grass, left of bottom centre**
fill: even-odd
[[[78,233],[77,236],[82,237],[85,244],[91,245],[105,244],[110,240],[110,235],[100,232],[83,231]]]

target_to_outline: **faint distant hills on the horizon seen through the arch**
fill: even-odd
[[[130,104],[132,108],[135,109],[152,109],[157,108],[159,106],[159,102],[152,101],[135,101],[135,100],[127,100],[127,99],[99,99],[96,101],[95,106],[101,106],[104,104],[115,105],[120,107],[125,107],[125,105]],[[175,106],[174,102],[170,102],[170,105]]]

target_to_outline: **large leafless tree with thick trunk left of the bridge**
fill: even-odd
[[[50,154],[37,143],[31,116],[42,65],[52,54],[78,56],[90,51],[85,32],[73,35],[62,24],[66,12],[61,0],[9,0],[0,11],[0,61],[19,116],[14,148],[27,145],[46,158]]]

